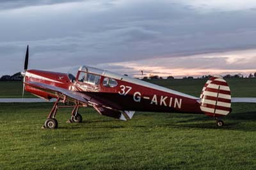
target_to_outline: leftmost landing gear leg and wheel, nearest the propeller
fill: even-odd
[[[54,103],[51,112],[48,114],[47,120],[44,123],[43,128],[58,128],[58,121],[55,119],[56,112],[58,110],[58,102],[60,102],[60,97],[57,98]]]

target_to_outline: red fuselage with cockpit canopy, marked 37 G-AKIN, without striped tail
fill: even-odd
[[[104,70],[79,69],[77,76],[67,73],[28,70],[26,82],[41,82],[58,88],[78,91],[91,97],[93,103],[120,111],[202,113],[198,98]],[[25,90],[45,99],[56,98],[31,86]]]

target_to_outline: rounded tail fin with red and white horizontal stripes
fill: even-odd
[[[231,112],[231,94],[222,77],[211,77],[200,95],[200,109],[213,117],[226,116]]]

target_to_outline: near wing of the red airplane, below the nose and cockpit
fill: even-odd
[[[70,102],[82,102],[83,104],[88,104],[88,97],[87,95],[84,95],[82,93],[76,92],[76,91],[70,91],[63,88],[58,88],[56,86],[51,86],[48,84],[40,83],[40,82],[24,82],[26,85],[31,86],[36,89],[40,89],[42,91],[45,91],[47,93],[51,93],[52,95],[56,95],[58,97],[64,98],[64,96],[67,97],[67,100]]]

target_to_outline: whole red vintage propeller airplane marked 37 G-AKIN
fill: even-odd
[[[92,106],[99,114],[120,120],[131,119],[135,111],[184,112],[206,114],[223,126],[222,116],[231,112],[231,95],[227,82],[221,77],[211,77],[200,98],[163,88],[126,75],[81,66],[76,77],[70,73],[28,70],[29,47],[24,65],[24,90],[37,97],[56,98],[45,121],[45,128],[57,128],[56,112],[59,102],[72,104],[70,122],[80,123],[79,107]],[[239,101],[237,101],[239,102]],[[62,106],[70,107],[70,106]]]

